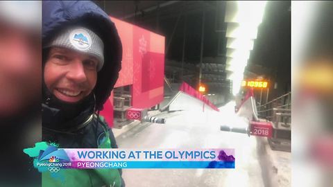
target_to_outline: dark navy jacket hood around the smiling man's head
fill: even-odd
[[[104,65],[98,72],[94,88],[96,109],[102,110],[121,69],[122,46],[114,23],[99,6],[91,1],[43,1],[42,17],[43,46],[68,26],[89,28],[103,40]]]

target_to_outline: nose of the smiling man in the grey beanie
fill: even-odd
[[[85,68],[83,66],[82,60],[74,59],[69,65],[69,71],[67,73],[67,78],[74,82],[85,82],[87,80],[87,75],[85,75]]]

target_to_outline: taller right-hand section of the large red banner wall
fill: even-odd
[[[164,94],[164,37],[133,27],[133,107],[150,108]]]

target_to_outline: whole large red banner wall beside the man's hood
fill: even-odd
[[[136,108],[161,103],[164,99],[164,36],[114,17],[110,19],[117,27],[123,46],[121,71],[114,88],[129,85],[131,105]],[[110,96],[101,112],[110,127],[113,124],[112,100]]]

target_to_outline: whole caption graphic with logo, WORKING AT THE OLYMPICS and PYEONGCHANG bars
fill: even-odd
[[[235,168],[233,149],[62,149],[45,142],[24,152],[40,172],[60,169]]]

